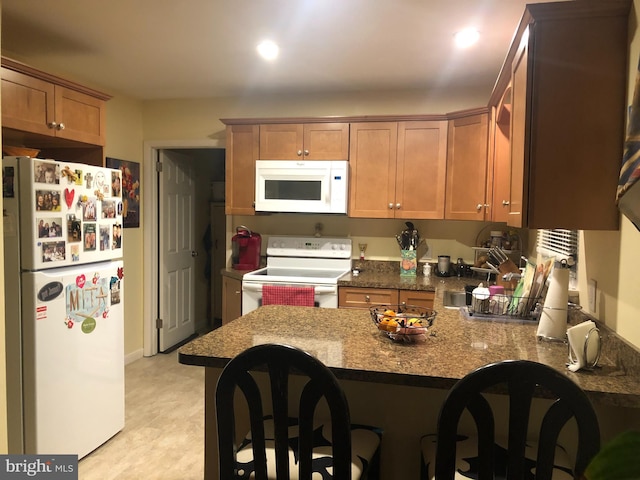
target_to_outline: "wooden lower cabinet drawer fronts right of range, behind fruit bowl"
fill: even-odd
[[[407,304],[433,308],[435,292],[396,288],[339,287],[338,308],[369,308],[373,305]]]

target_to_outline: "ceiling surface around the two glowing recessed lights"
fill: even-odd
[[[546,0],[542,0],[546,1]],[[473,89],[536,0],[1,0],[2,53],[138,99]],[[453,34],[480,42],[456,50]],[[271,38],[267,63],[255,46]]]

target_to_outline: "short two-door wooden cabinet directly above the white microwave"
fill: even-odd
[[[348,160],[348,123],[260,125],[260,160]]]

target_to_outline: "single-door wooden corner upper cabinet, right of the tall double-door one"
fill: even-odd
[[[445,219],[484,220],[489,115],[455,116],[449,120]]]

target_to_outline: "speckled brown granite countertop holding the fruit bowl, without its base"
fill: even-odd
[[[567,345],[537,340],[535,321],[469,319],[459,309],[443,307],[445,289],[462,290],[477,280],[418,276],[406,283],[387,277],[382,282],[374,273],[363,273],[343,277],[340,285],[435,289],[438,314],[426,341],[392,341],[375,327],[367,310],[269,305],[181,347],[179,361],[222,368],[252,345],[281,342],[310,351],[338,378],[448,389],[482,365],[527,359],[569,376],[594,403],[640,407],[640,353],[606,327],[599,325],[603,336],[599,367],[573,373],[566,368]]]

